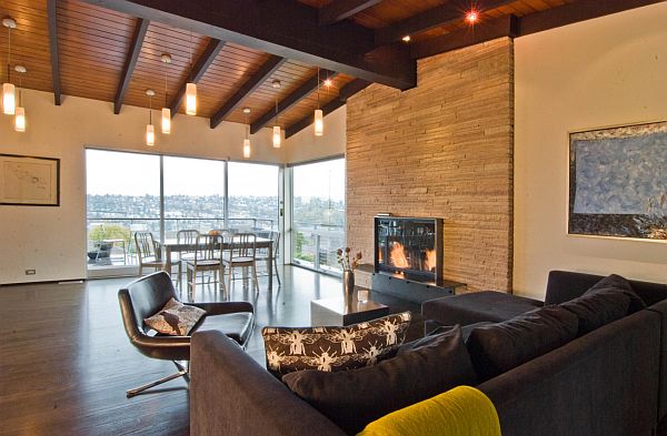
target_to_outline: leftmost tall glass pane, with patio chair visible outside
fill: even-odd
[[[86,151],[89,270],[135,264],[133,232],[160,234],[160,158]]]

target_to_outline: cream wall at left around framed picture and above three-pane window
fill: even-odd
[[[242,160],[242,124],[223,122],[211,130],[208,119],[177,114],[172,133],[158,133],[156,146],[148,148],[146,109],[126,105],[115,115],[111,103],[73,97],[56,107],[52,94],[38,91],[24,91],[23,105],[24,133],[0,114],[0,153],[59,158],[60,206],[0,205],[0,284],[86,276],[86,146]],[[285,162],[285,148],[273,150],[269,129],[252,135],[252,152],[251,161]],[[122,176],[122,169],[109,174]],[[37,275],[26,276],[28,268]]]

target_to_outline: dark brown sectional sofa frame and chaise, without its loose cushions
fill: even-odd
[[[573,300],[600,278],[554,271],[546,303]],[[630,284],[648,307],[477,386],[494,402],[504,436],[653,434],[667,414],[667,285]],[[449,306],[442,304],[448,298]],[[504,321],[544,304],[500,298],[492,303],[479,295],[468,303],[462,296],[439,298],[424,303],[422,313],[441,324],[471,324]],[[190,430],[195,436],[345,435],[222,334],[196,334],[191,365]]]

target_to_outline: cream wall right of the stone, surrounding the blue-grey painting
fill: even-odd
[[[568,132],[667,119],[665,23],[658,3],[515,41],[515,293],[555,268],[667,282],[667,242],[566,227]]]

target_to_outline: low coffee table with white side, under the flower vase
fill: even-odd
[[[310,325],[350,325],[389,315],[389,306],[371,300],[359,301],[357,293],[349,304],[342,295],[334,298],[313,300],[310,302]]]

